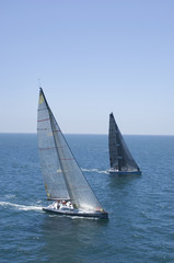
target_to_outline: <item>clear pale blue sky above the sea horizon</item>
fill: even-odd
[[[174,135],[173,0],[0,0],[0,133]]]

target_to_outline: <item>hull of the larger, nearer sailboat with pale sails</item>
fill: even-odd
[[[61,209],[54,209],[49,207],[44,207],[43,210],[48,213],[54,213],[57,215],[65,215],[65,216],[72,216],[72,217],[91,217],[91,218],[98,218],[98,219],[108,219],[108,214],[105,213],[86,213],[86,211],[80,211],[74,209],[68,209],[68,210],[61,210]]]

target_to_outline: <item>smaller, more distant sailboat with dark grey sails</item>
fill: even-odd
[[[115,122],[114,114],[109,114],[109,172],[116,174],[141,174],[139,167],[132,158],[123,135]]]

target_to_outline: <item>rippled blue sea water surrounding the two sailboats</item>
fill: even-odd
[[[108,174],[106,135],[66,135],[109,220],[47,205],[37,137],[0,134],[0,262],[174,262],[174,136],[125,136],[142,175]]]

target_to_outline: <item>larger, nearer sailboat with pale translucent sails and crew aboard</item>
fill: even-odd
[[[47,198],[45,211],[58,215],[108,218],[82,173],[63,134],[39,90],[37,137],[42,173]]]

